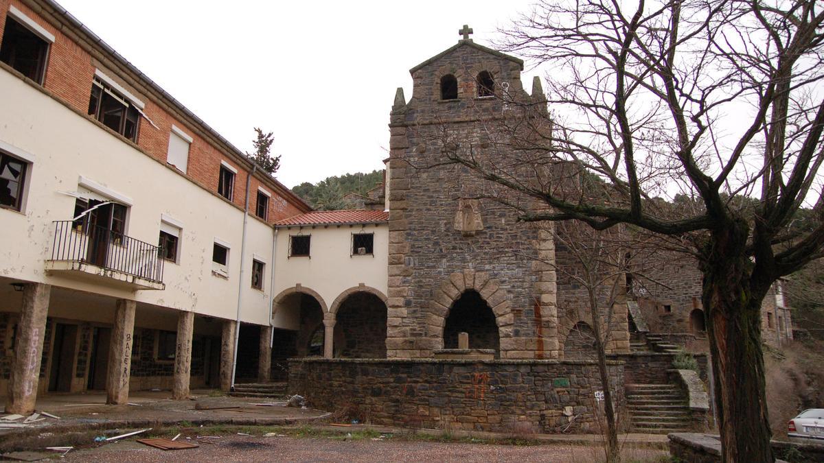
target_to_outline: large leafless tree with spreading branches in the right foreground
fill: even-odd
[[[546,101],[508,101],[508,137],[453,134],[443,148],[444,162],[544,205],[524,221],[626,223],[695,255],[724,461],[774,460],[761,301],[824,254],[822,10],[546,0],[504,31],[507,49],[551,66]],[[569,194],[558,166],[587,189]],[[812,209],[803,230],[791,227],[800,208]]]

